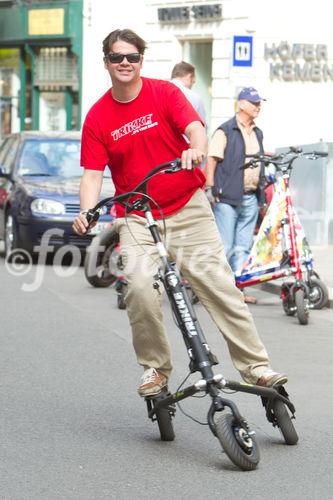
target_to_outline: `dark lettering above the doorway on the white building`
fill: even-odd
[[[157,9],[161,23],[188,23],[190,21],[216,21],[222,19],[222,5],[193,5]]]

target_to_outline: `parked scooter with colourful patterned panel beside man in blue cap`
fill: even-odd
[[[244,168],[253,168],[258,162],[263,162],[266,166],[272,164],[277,174],[274,178],[272,201],[254,239],[250,255],[241,271],[235,273],[235,279],[237,287],[242,289],[266,281],[293,278],[293,281],[285,282],[281,287],[283,309],[288,316],[297,313],[299,323],[305,325],[308,323],[309,310],[316,307],[315,287],[320,287],[324,296],[321,307],[327,302],[328,291],[314,271],[310,246],[292,203],[290,175],[294,161],[301,156],[314,160],[327,156],[327,153],[303,152],[298,148],[290,148],[286,153],[277,156],[253,155],[246,163]],[[279,212],[281,218],[275,220],[271,226],[274,210]],[[280,247],[280,259],[258,264],[258,247],[262,245],[263,240],[268,243],[269,237],[272,236],[274,244],[269,249],[277,253]]]

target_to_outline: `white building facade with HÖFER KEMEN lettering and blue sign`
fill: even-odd
[[[145,76],[168,79],[182,59],[196,66],[209,135],[232,116],[239,90],[254,86],[267,99],[258,121],[266,149],[332,141],[333,39],[323,0],[85,0],[83,116],[110,85],[102,39],[116,28],[147,41]]]

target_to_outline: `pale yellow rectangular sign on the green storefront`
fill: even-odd
[[[31,9],[28,11],[28,35],[63,35],[64,9]]]

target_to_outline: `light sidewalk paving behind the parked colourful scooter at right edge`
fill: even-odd
[[[328,288],[328,307],[333,308],[333,245],[312,246],[314,270]],[[270,293],[280,293],[281,280],[263,283],[262,290]]]

